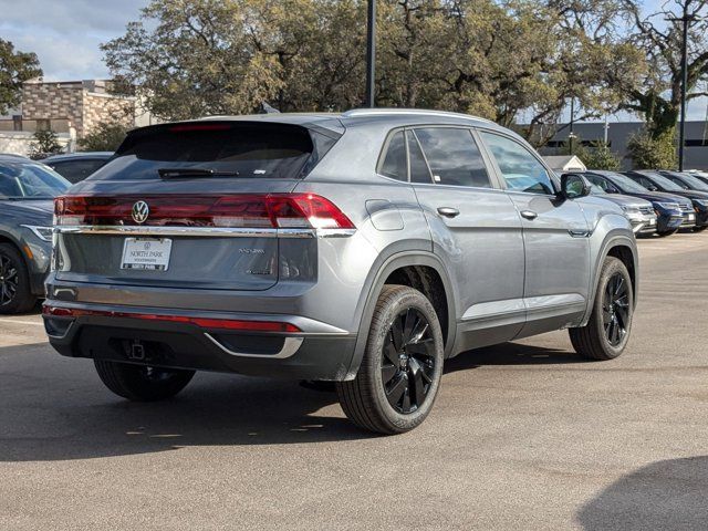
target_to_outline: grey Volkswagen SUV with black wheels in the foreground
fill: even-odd
[[[466,115],[149,126],[56,200],[44,323],[132,400],[200,369],[330,381],[356,425],[402,433],[470,348],[570,329],[585,357],[623,352],[636,242],[589,194]]]

